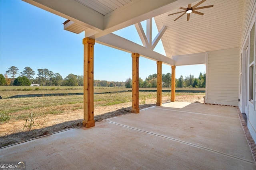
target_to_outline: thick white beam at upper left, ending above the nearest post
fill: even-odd
[[[104,30],[104,16],[74,0],[23,1],[95,31]]]

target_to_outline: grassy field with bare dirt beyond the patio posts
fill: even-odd
[[[94,119],[130,113],[131,88],[94,87]],[[163,88],[170,90],[170,88]],[[176,88],[190,92],[176,92],[176,101],[203,103],[204,88]],[[0,143],[18,143],[71,127],[81,127],[83,119],[82,86],[0,86]],[[54,94],[55,96],[10,98],[16,95]],[[59,96],[62,94],[64,96]],[[65,95],[66,94],[66,95]],[[171,93],[162,92],[162,102],[170,102]],[[156,104],[156,88],[141,88],[140,108]]]

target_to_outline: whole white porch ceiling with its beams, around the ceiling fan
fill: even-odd
[[[179,7],[186,8],[190,3],[193,6],[200,0],[24,1],[70,20],[66,30],[75,33],[84,30],[85,36],[95,39],[97,43],[139,53],[169,65],[202,64],[205,63],[204,52],[240,45],[241,0],[207,0],[200,6],[214,7],[198,10],[204,13],[203,16],[192,13],[189,21],[186,21],[186,16],[174,21],[180,14],[168,14],[179,12]],[[163,26],[167,28],[161,38],[166,56],[111,34],[153,17],[158,30]]]

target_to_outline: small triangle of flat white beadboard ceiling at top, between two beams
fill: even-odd
[[[76,0],[102,15],[109,14],[118,8],[132,2],[132,0]]]

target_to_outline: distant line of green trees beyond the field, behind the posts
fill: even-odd
[[[30,67],[25,67],[22,72],[18,72],[16,66],[11,66],[6,71],[6,74],[0,74],[0,86],[30,86],[30,84],[39,84],[40,86],[84,86],[84,76],[77,76],[74,74],[68,74],[66,78],[62,78],[59,73],[54,73],[47,68],[38,69],[37,74]],[[16,75],[19,76],[16,78]],[[10,78],[8,78],[8,75]],[[36,75],[36,78],[33,76]],[[140,88],[156,88],[157,74],[152,74],[146,77],[143,81],[139,78]],[[194,78],[193,75],[180,76],[176,79],[176,87],[194,87],[205,88],[206,75],[200,73],[198,78]],[[162,87],[171,87],[172,74],[162,74]],[[94,80],[94,86],[101,87],[122,87],[132,88],[132,79],[126,79],[126,82],[109,82],[106,80]]]

